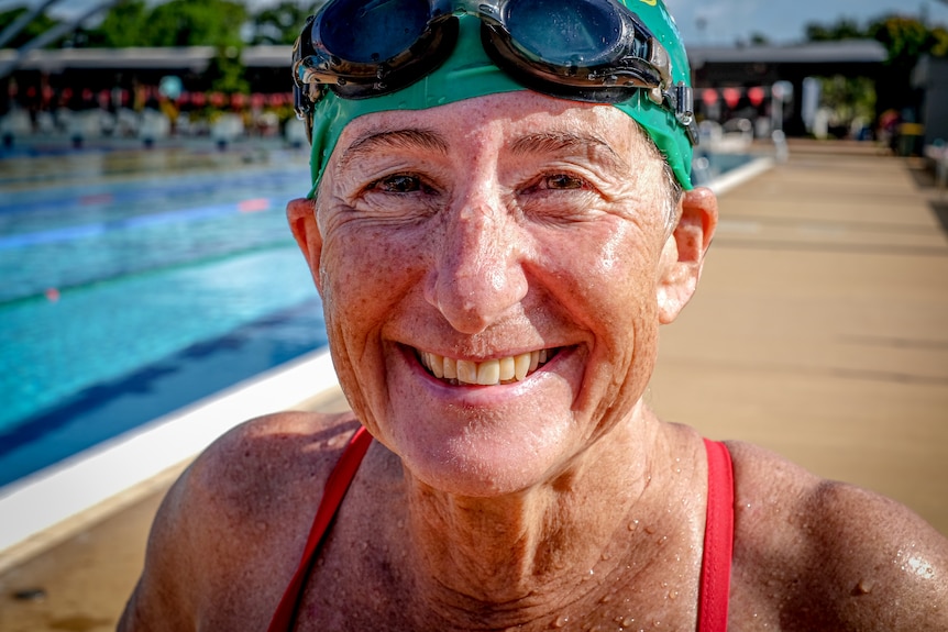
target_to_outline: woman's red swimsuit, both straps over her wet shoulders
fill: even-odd
[[[293,630],[302,588],[316,554],[371,443],[372,435],[365,428],[360,428],[329,475],[299,566],[286,587],[267,632]],[[725,632],[734,547],[734,475],[727,446],[705,440],[705,448],[708,455],[708,506],[698,588],[697,629],[698,632]]]

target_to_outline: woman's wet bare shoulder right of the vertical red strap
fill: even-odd
[[[728,447],[734,629],[948,630],[948,540],[878,494]]]

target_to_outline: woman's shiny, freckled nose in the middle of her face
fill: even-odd
[[[503,319],[527,295],[526,244],[499,200],[459,206],[449,211],[425,293],[456,331],[470,335]]]

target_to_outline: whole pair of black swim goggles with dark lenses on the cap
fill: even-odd
[[[644,90],[697,144],[691,87],[673,84],[665,48],[615,0],[332,0],[307,20],[293,51],[295,109],[307,135],[327,90],[367,99],[431,74],[454,48],[465,13],[479,18],[494,64],[523,87],[594,103]]]

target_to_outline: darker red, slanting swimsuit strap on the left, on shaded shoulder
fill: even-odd
[[[312,568],[317,551],[326,539],[332,519],[335,518],[335,512],[339,511],[339,506],[342,505],[342,499],[345,498],[345,492],[349,491],[349,486],[355,478],[359,465],[371,444],[372,435],[368,434],[365,426],[360,426],[349,440],[349,445],[345,446],[339,463],[335,464],[332,474],[326,480],[322,500],[316,511],[312,528],[309,530],[309,537],[306,541],[306,548],[302,552],[299,566],[283,594],[283,599],[273,614],[267,632],[293,630],[296,612],[299,609],[299,599],[302,596],[302,587],[306,585],[307,576]]]

